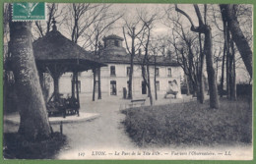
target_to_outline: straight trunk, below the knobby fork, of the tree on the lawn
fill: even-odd
[[[207,64],[207,74],[209,82],[209,91],[210,91],[210,107],[218,109],[220,107],[218,91],[217,91],[217,82],[215,76],[215,69],[213,67],[213,53],[212,53],[212,34],[211,28],[205,28],[205,45],[204,51],[206,54],[206,64]]]

